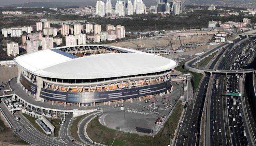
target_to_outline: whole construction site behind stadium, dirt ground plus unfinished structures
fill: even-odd
[[[197,50],[212,41],[213,35],[182,36],[177,33],[166,33],[154,37],[139,37],[108,45],[126,47],[155,55],[169,55],[190,50]],[[199,51],[202,52],[202,51]]]

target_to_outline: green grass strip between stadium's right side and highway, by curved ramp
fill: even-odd
[[[194,92],[196,93],[197,88],[199,86],[199,83],[200,83],[200,81],[201,81],[201,79],[203,77],[203,74],[195,73],[195,72],[191,72],[191,71],[186,70],[185,67],[184,67],[184,64],[185,64],[185,61],[180,63],[179,66],[177,66],[175,68],[175,70],[182,72],[182,74],[190,73],[190,74],[192,74],[194,76]]]

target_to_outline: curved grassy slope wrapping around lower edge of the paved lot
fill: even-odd
[[[173,139],[174,130],[180,119],[183,106],[179,101],[171,116],[167,119],[167,122],[163,125],[163,128],[154,136],[139,135],[134,133],[126,133],[116,131],[114,129],[102,126],[99,123],[98,117],[94,118],[87,126],[87,134],[95,142],[102,143],[104,145],[120,146],[164,146],[170,144],[170,140]]]

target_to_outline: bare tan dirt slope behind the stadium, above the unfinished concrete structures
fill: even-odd
[[[207,43],[212,38],[211,35],[202,36],[164,36],[164,37],[147,37],[147,38],[137,38],[129,39],[122,42],[110,43],[108,45],[114,45],[117,47],[124,47],[130,49],[136,49],[138,46],[141,47],[168,47],[172,43],[172,49],[175,50],[177,47],[181,46],[181,43]]]

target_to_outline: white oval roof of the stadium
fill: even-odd
[[[131,76],[166,71],[177,66],[175,61],[161,56],[119,47],[105,47],[129,53],[76,57],[58,49],[49,49],[18,56],[14,61],[34,75],[62,79]]]

